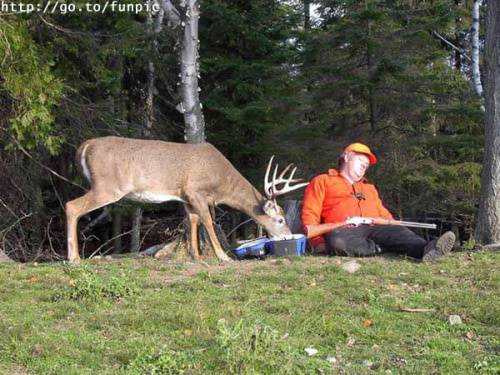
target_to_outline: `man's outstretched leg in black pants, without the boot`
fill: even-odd
[[[398,225],[374,225],[369,228],[368,239],[379,245],[383,252],[422,259],[427,241],[408,228]]]

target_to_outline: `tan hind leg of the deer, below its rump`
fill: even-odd
[[[70,263],[80,263],[78,254],[78,219],[83,215],[120,200],[122,196],[110,193],[95,193],[92,190],[87,194],[66,203],[66,225],[68,236],[68,260]]]

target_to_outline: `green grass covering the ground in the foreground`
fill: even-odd
[[[346,260],[0,266],[0,373],[500,372],[499,252]]]

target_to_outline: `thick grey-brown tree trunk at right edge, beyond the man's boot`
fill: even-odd
[[[500,2],[488,1],[485,73],[485,145],[481,198],[475,237],[500,243]]]

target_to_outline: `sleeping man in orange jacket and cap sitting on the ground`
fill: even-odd
[[[307,187],[302,208],[305,233],[324,223],[339,228],[325,236],[310,238],[313,252],[344,256],[373,256],[380,253],[407,255],[424,262],[449,253],[455,243],[453,232],[426,241],[398,225],[357,225],[354,217],[393,220],[365,173],[377,158],[361,143],[346,147],[339,159],[340,171],[316,176]]]

